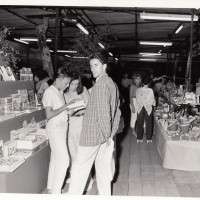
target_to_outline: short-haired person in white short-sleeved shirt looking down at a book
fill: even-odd
[[[66,145],[68,114],[63,91],[69,87],[72,74],[65,68],[59,68],[53,84],[43,95],[42,103],[47,119],[46,131],[51,148],[47,190],[51,194],[61,194],[61,188],[69,166],[69,154]]]

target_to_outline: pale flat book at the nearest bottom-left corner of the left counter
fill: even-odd
[[[0,158],[0,172],[13,172],[25,162],[24,159],[8,157]]]

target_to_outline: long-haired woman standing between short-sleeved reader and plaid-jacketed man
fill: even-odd
[[[70,103],[74,100],[83,100],[85,105],[87,105],[89,100],[89,93],[87,88],[82,85],[81,76],[77,73],[73,73],[73,77],[70,86],[65,93],[66,103]],[[69,116],[69,129],[68,129],[68,148],[71,160],[70,170],[73,170],[73,165],[77,156],[77,149],[79,144],[79,138],[82,130],[84,110],[77,111],[74,115]],[[70,183],[70,179],[67,180]],[[87,188],[89,191],[92,188],[93,179],[90,178],[90,184]]]

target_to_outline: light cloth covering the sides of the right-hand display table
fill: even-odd
[[[173,141],[154,116],[156,145],[163,167],[186,171],[200,171],[200,142]]]

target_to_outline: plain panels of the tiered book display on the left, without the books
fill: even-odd
[[[33,89],[33,82],[9,81],[0,82],[0,98],[16,93],[19,89]],[[45,119],[44,109],[30,114],[23,114],[12,119],[0,122],[0,140],[10,139],[10,131],[22,126],[24,120],[28,122],[35,117],[36,122]],[[43,144],[26,159],[26,162],[14,172],[0,173],[1,193],[40,193],[46,188],[50,148],[48,143]]]

